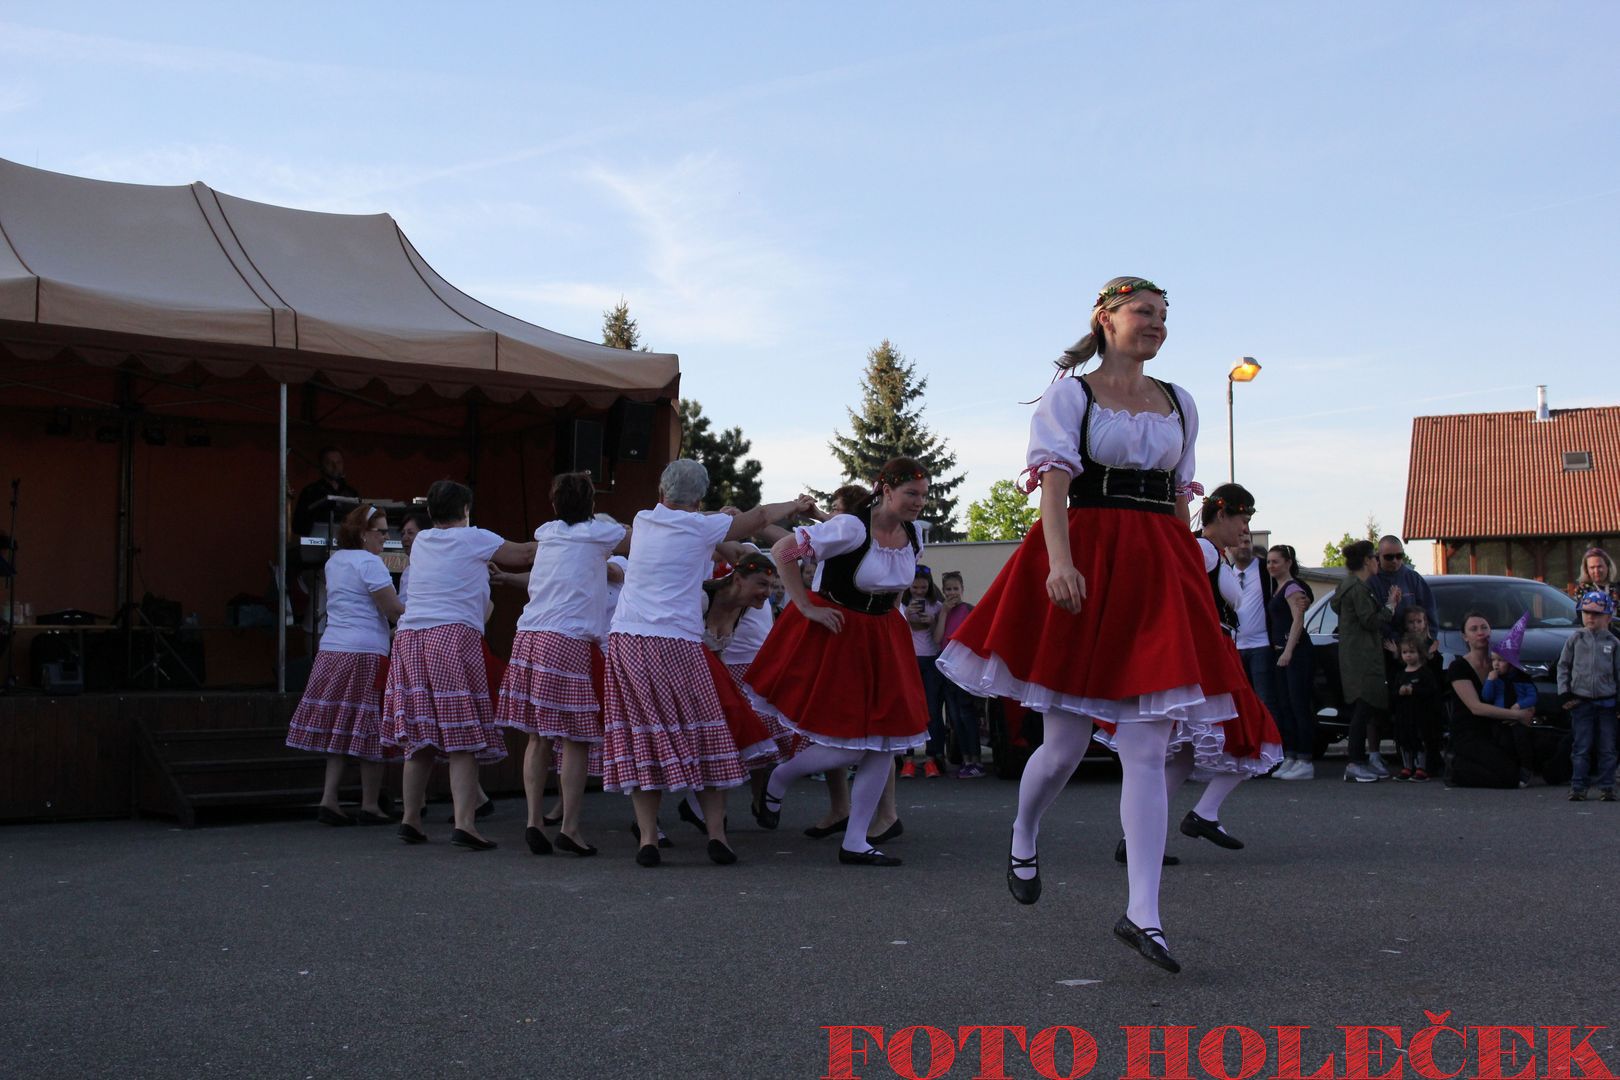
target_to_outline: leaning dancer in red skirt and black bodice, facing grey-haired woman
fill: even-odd
[[[878,474],[872,502],[795,529],[771,549],[792,606],[748,667],[748,696],[812,746],[776,766],[761,824],[781,818],[787,785],[812,772],[855,766],[849,823],[838,860],[899,866],[868,839],[872,814],[893,779],[894,755],[927,742],[928,704],[906,620],[894,610],[917,576],[917,515],[928,476],[912,458]],[[820,588],[805,589],[795,560],[813,555]]]

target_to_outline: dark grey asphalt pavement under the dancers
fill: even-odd
[[[501,842],[484,853],[449,845],[442,808],[423,847],[288,818],[11,826],[0,1074],[938,1080],[998,1074],[982,1072],[978,1036],[954,1061],[930,1038],[1068,1025],[1098,1056],[1074,1075],[1165,1075],[1162,1057],[1128,1062],[1124,1028],[1191,1027],[1202,1077],[1223,1065],[1197,1059],[1199,1040],[1238,1025],[1265,1043],[1254,1075],[1273,1077],[1273,1028],[1301,1025],[1306,1072],[1335,1054],[1346,1075],[1341,1027],[1398,1028],[1406,1048],[1426,1010],[1456,1028],[1615,1020],[1620,803],[1343,784],[1341,767],[1243,785],[1223,814],[1241,852],[1179,836],[1199,789],[1174,797],[1163,921],[1181,975],[1110,933],[1126,895],[1119,784],[1090,766],[1043,826],[1035,907],[1008,895],[1017,789],[995,777],[902,780],[893,870],[841,866],[836,839],[800,834],[825,810],[812,782],[776,832],[732,793],[735,866],[711,865],[672,805],[676,847],[637,866],[629,800],[603,793],[586,806],[596,858],[530,855],[522,800],[481,823]],[[839,1025],[885,1043],[912,1025],[946,1035],[901,1036],[907,1062],[854,1033],[870,1052],[846,1069],[829,1052]],[[1045,1038],[1032,1064],[1014,1036],[1004,1075],[1071,1075],[1072,1036]],[[1437,1043],[1445,1072],[1464,1038]],[[1552,1040],[1531,1035],[1537,1052]],[[1586,1046],[1620,1072],[1615,1043],[1605,1030]]]

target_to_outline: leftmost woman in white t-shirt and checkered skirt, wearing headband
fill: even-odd
[[[337,800],[343,766],[360,759],[360,823],[392,821],[377,806],[382,792],[381,675],[387,670],[389,623],[405,606],[382,565],[389,518],[376,507],[355,507],[337,529],[337,551],[326,560],[326,633],[287,725],[287,745],[326,755],[326,790],[318,819],[352,826]]]

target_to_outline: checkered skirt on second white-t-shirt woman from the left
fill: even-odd
[[[483,635],[462,623],[394,635],[389,685],[382,691],[382,743],[407,756],[429,746],[471,753],[480,763],[505,758],[484,667]]]

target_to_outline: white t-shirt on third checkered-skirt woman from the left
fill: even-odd
[[[548,630],[578,641],[608,636],[608,555],[625,528],[598,517],[578,525],[546,521],[535,529],[535,568],[517,628]]]

